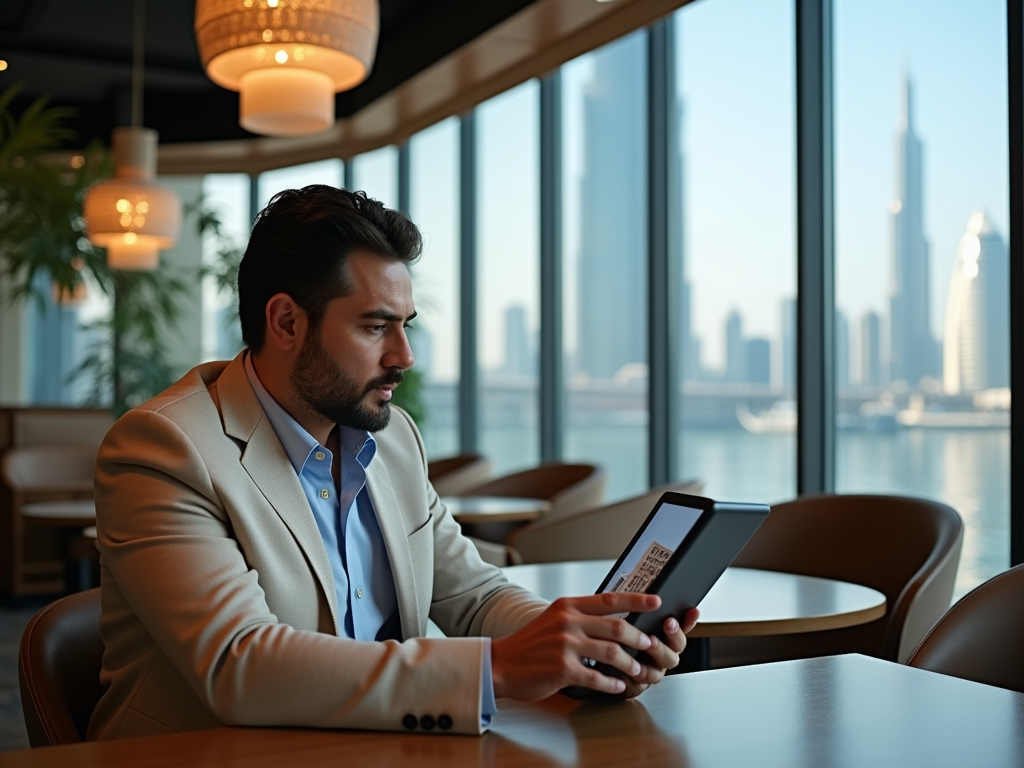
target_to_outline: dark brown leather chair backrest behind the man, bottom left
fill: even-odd
[[[102,658],[98,589],[61,598],[32,617],[22,636],[17,674],[33,746],[85,739],[103,693]]]

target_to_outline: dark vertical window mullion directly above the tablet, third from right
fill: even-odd
[[[679,466],[680,265],[672,258],[670,240],[674,29],[670,16],[647,33],[647,469],[652,486],[670,482]]]

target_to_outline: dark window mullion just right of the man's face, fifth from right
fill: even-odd
[[[459,124],[459,450],[479,446],[479,370],[476,331],[476,118]]]

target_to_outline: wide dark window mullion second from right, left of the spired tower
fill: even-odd
[[[797,493],[835,488],[831,0],[797,0]]]

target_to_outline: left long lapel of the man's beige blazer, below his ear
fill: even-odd
[[[217,380],[217,398],[220,401],[224,431],[246,443],[242,466],[288,526],[316,574],[331,608],[337,635],[340,631],[338,599],[324,540],[309,509],[306,495],[299,484],[299,478],[295,475],[295,469],[249,383],[243,354],[245,352],[231,360]],[[383,528],[383,524],[381,527]],[[390,549],[388,545],[389,552]],[[409,553],[406,555],[408,559]]]

